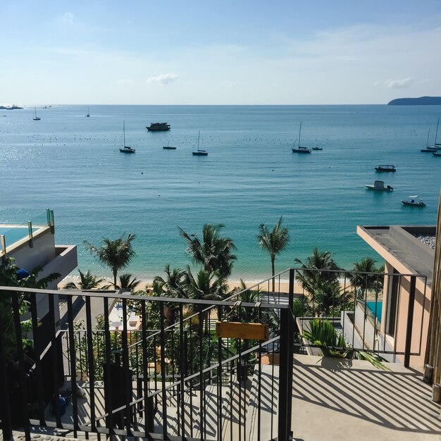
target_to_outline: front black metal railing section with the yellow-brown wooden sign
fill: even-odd
[[[287,439],[292,395],[285,387],[280,393],[278,381],[285,382],[292,369],[288,362],[268,364],[271,368],[262,364],[277,359],[282,350],[292,359],[292,342],[286,335],[280,338],[281,328],[293,338],[288,305],[10,287],[1,287],[0,293],[11,302],[13,323],[6,327],[15,330],[12,339],[0,339],[0,352],[7,355],[0,359],[0,380],[6,385],[13,378],[13,387],[0,392],[7,404],[1,414],[5,440],[13,426],[30,437],[35,424],[72,430],[74,436],[84,431],[150,439],[247,440],[251,432],[262,432],[263,421],[265,426],[271,421],[268,439]],[[61,293],[67,320],[58,329],[56,295]],[[49,314],[44,331],[49,344],[42,350],[36,296],[46,296]],[[75,323],[78,296],[85,299],[84,329]],[[32,343],[23,340],[20,302],[25,297]],[[116,299],[123,320],[118,330],[111,330],[109,309]],[[141,316],[139,330],[128,330],[128,304]],[[102,315],[102,329],[92,326],[94,314]],[[158,324],[154,330],[147,328],[152,318]],[[216,338],[212,324],[225,319],[266,323],[269,339]],[[10,350],[4,352],[6,346]]]

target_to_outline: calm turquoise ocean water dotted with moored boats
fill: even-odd
[[[0,223],[39,219],[54,209],[56,242],[77,244],[79,268],[109,271],[83,240],[135,233],[137,257],[127,271],[163,275],[166,264],[189,259],[178,226],[200,232],[223,223],[237,246],[232,280],[270,275],[257,244],[260,223],[280,216],[290,244],[276,271],[305,259],[314,247],[352,268],[380,259],[356,235],[356,225],[430,225],[436,221],[441,159],[423,154],[433,144],[441,106],[51,106],[0,112]],[[5,115],[5,116],[4,116]],[[126,144],[136,154],[122,154]],[[151,122],[170,132],[147,132]],[[292,153],[302,121],[302,145]],[[201,131],[206,157],[192,156]],[[441,131],[440,131],[441,137]],[[438,137],[438,140],[440,139]],[[177,147],[163,150],[162,146]],[[396,173],[375,173],[381,163]],[[375,179],[393,192],[372,192]],[[401,199],[418,194],[424,209]]]

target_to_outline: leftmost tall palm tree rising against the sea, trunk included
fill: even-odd
[[[132,248],[132,240],[134,239],[135,235],[133,234],[128,235],[127,238],[124,238],[124,235],[122,235],[116,240],[104,238],[104,244],[99,248],[90,244],[87,240],[84,241],[87,249],[97,256],[101,263],[111,268],[113,273],[113,286],[116,286],[118,271],[128,266],[132,258],[136,256]]]

